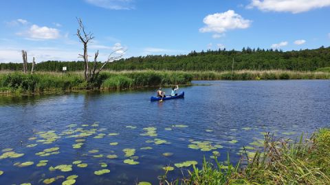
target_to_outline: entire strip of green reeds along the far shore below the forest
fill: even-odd
[[[330,79],[328,71],[102,71],[91,90],[190,85],[192,80]],[[68,73],[0,71],[0,95],[90,90],[80,71]]]

